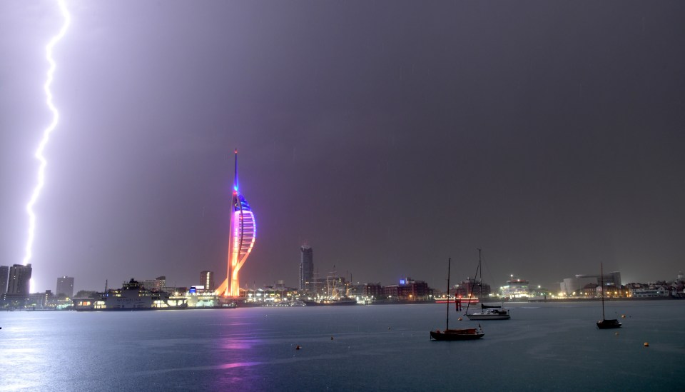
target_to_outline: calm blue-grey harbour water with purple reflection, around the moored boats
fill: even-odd
[[[512,303],[477,341],[445,305],[0,312],[0,391],[682,391],[685,301]],[[450,308],[450,326],[457,321]],[[644,343],[648,342],[649,347]],[[296,347],[300,346],[297,350]]]

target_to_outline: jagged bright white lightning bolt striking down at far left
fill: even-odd
[[[34,188],[34,193],[31,194],[31,199],[29,200],[29,203],[26,204],[26,213],[29,214],[29,239],[26,241],[26,256],[24,256],[24,265],[29,263],[29,261],[31,261],[31,256],[33,256],[32,248],[34,246],[34,231],[36,230],[36,214],[34,213],[34,204],[36,204],[36,201],[38,201],[38,197],[41,194],[41,189],[43,189],[43,185],[45,184],[45,168],[48,165],[48,161],[46,161],[45,156],[43,156],[43,150],[45,149],[45,146],[48,144],[50,134],[52,133],[52,131],[54,131],[59,121],[59,111],[57,111],[57,108],[52,104],[52,93],[50,91],[50,85],[52,84],[52,75],[54,74],[55,68],[57,66],[54,59],[52,58],[52,49],[57,44],[57,42],[59,42],[59,40],[61,40],[62,37],[64,37],[64,34],[66,34],[66,29],[68,29],[69,24],[71,24],[71,15],[69,15],[69,11],[68,9],[66,9],[66,4],[64,4],[64,0],[57,0],[57,4],[59,4],[59,9],[62,13],[62,16],[64,17],[64,24],[62,24],[62,28],[60,29],[59,33],[53,36],[50,39],[49,43],[45,46],[45,58],[50,63],[50,68],[48,69],[48,73],[46,74],[46,81],[43,85],[43,89],[45,91],[46,96],[46,104],[52,112],[52,122],[45,129],[45,131],[43,131],[43,138],[41,139],[41,142],[38,145],[38,149],[36,149],[36,153],[34,154],[36,159],[40,161],[41,164],[38,169],[38,183]]]

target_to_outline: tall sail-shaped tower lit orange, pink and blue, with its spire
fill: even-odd
[[[228,275],[216,289],[217,295],[240,296],[238,271],[250,256],[255,246],[257,226],[250,205],[238,189],[238,150],[235,150],[235,175],[233,176],[233,198],[230,211],[230,235],[228,237]]]

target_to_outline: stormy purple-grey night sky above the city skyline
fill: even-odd
[[[58,276],[225,278],[233,149],[257,220],[241,286],[443,289],[685,270],[683,1],[69,1],[35,210]],[[53,1],[0,2],[0,265],[24,258]]]

